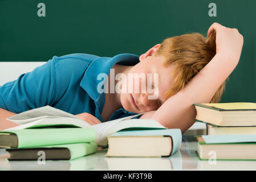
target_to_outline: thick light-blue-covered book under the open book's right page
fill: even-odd
[[[119,131],[108,137],[106,156],[161,157],[180,149],[180,129]]]

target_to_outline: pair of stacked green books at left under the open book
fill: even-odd
[[[8,160],[72,160],[97,150],[94,129],[24,129],[0,131],[0,147]]]

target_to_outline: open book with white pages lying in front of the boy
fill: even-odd
[[[106,146],[107,137],[123,129],[166,129],[166,127],[153,119],[134,118],[141,114],[131,115],[91,126],[87,122],[83,121],[83,119],[80,119],[73,114],[51,106],[44,106],[7,118],[7,120],[17,123],[20,126],[6,130],[35,129],[44,127],[92,127],[97,133],[96,143],[98,146]]]

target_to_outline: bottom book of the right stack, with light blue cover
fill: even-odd
[[[256,160],[256,135],[200,135],[200,159]]]

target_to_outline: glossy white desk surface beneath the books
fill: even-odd
[[[0,150],[0,170],[256,170],[256,161],[217,160],[216,164],[200,160],[197,142],[192,135],[182,137],[179,151],[169,158],[107,158],[107,150],[74,160],[8,161],[7,152]]]

